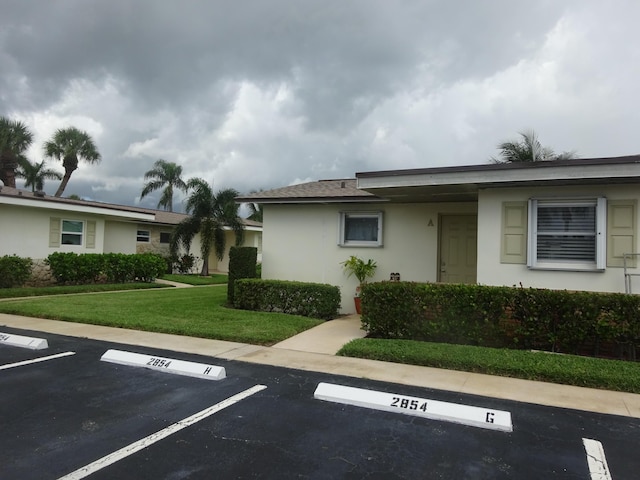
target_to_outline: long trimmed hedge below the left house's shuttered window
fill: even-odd
[[[152,282],[167,269],[166,260],[153,253],[63,253],[55,252],[45,263],[60,284]]]

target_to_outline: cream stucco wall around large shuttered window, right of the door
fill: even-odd
[[[640,190],[633,186],[601,187],[550,187],[490,189],[480,192],[478,200],[478,283],[484,285],[513,286],[561,290],[587,290],[600,292],[624,292],[623,269],[607,267],[604,271],[568,272],[531,270],[526,265],[500,263],[502,202],[527,201],[531,197],[606,197],[607,200],[630,200],[640,197]],[[640,202],[639,202],[640,206]],[[640,210],[638,208],[637,210]],[[636,217],[640,215],[636,211]],[[636,225],[640,219],[636,218]],[[638,248],[636,233],[636,251]],[[640,277],[636,280],[640,288]]]

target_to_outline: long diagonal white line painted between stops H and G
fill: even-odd
[[[68,475],[65,475],[64,477],[60,477],[58,480],[80,480],[82,478],[88,477],[89,475],[97,472],[98,470],[108,467],[109,465],[112,465],[117,461],[128,457],[129,455],[133,455],[134,453],[139,452],[140,450],[147,448],[156,442],[159,442],[160,440],[168,437],[169,435],[179,432],[183,428],[193,425],[194,423],[197,423],[200,420],[204,420],[205,418],[210,417],[214,413],[217,413],[220,410],[230,407],[231,405],[234,405],[239,401],[244,400],[245,398],[258,393],[264,390],[265,388],[267,388],[266,385],[255,385],[243,392],[237,393],[236,395],[233,395],[232,397],[229,397],[226,400],[223,400],[222,402],[216,403],[215,405],[212,405],[209,408],[201,410],[200,412],[194,415],[191,415],[190,417],[187,417],[184,420],[180,420],[179,422],[176,422],[173,425],[169,425],[167,428],[159,430],[156,433],[152,433],[148,437],[142,438],[135,443],[132,443],[130,445],[127,445],[126,447],[121,448],[120,450],[116,450],[115,452],[110,453],[109,455],[106,455],[96,460],[95,462],[90,463],[89,465],[86,465],[74,472],[69,473]]]

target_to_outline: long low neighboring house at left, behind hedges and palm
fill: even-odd
[[[53,252],[169,254],[169,240],[185,214],[139,207],[72,200],[0,186],[0,256],[18,255],[36,261]],[[260,246],[260,223],[245,221],[244,245]],[[212,254],[211,271],[227,272],[228,249],[234,245],[233,232],[227,237],[222,261]],[[199,235],[191,253],[200,252]],[[259,252],[260,253],[260,252]]]

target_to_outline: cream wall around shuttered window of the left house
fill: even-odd
[[[95,248],[75,245],[49,247],[50,218],[63,220],[93,220],[96,222]],[[105,223],[91,214],[64,212],[57,210],[21,208],[0,205],[0,255],[18,255],[32,259],[42,259],[53,252],[103,253]]]

